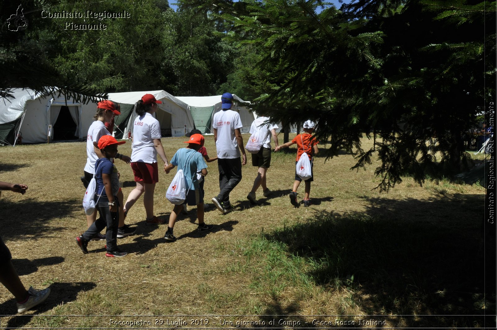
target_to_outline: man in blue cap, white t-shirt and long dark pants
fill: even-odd
[[[231,110],[233,95],[221,96],[222,111],[214,114],[214,142],[216,143],[219,169],[219,194],[212,198],[221,213],[231,209],[230,192],[242,180],[242,165],[247,164],[244,139],[240,128],[243,127],[238,112]],[[239,150],[240,149],[240,150]],[[240,161],[240,151],[243,162]]]

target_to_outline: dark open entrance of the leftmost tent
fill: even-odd
[[[79,138],[79,111],[77,106],[52,105],[50,107],[50,122],[53,125],[54,141],[77,140]]]

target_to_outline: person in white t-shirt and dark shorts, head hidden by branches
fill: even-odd
[[[268,117],[259,117],[252,122],[250,126],[250,134],[254,134],[260,130],[259,134],[262,137],[264,143],[260,147],[257,154],[252,154],[252,166],[257,166],[257,176],[253,181],[252,190],[247,195],[247,199],[250,204],[257,204],[255,200],[255,191],[259,186],[262,186],[262,194],[267,197],[269,196],[269,189],[266,185],[266,172],[271,165],[271,139],[273,138],[274,144],[278,147],[278,136],[276,135],[276,129],[278,126],[268,123]]]

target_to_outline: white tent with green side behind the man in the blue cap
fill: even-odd
[[[212,118],[214,114],[221,111],[221,95],[214,96],[176,96],[179,100],[189,105],[190,112],[195,120],[195,127],[202,133],[213,133]],[[248,133],[250,125],[255,119],[253,112],[242,103],[246,102],[237,95],[233,95],[235,104],[232,110],[238,111],[244,125],[242,133]]]

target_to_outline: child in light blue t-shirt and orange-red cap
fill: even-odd
[[[181,148],[174,154],[169,165],[166,166],[165,171],[166,173],[169,173],[174,166],[178,166],[178,168],[183,170],[187,183],[186,189],[188,189],[186,203],[190,206],[197,206],[198,231],[206,232],[211,230],[214,226],[206,225],[204,223],[204,192],[200,189],[197,180],[197,172],[200,172],[203,176],[207,175],[207,165],[202,158],[202,154],[197,152],[204,144],[204,137],[201,134],[193,134],[190,136],[190,140],[185,141],[185,143],[188,143],[188,147]],[[182,209],[182,204],[174,205],[174,208],[172,209],[169,216],[167,231],[164,235],[164,238],[167,241],[176,241],[172,232],[178,213]]]

